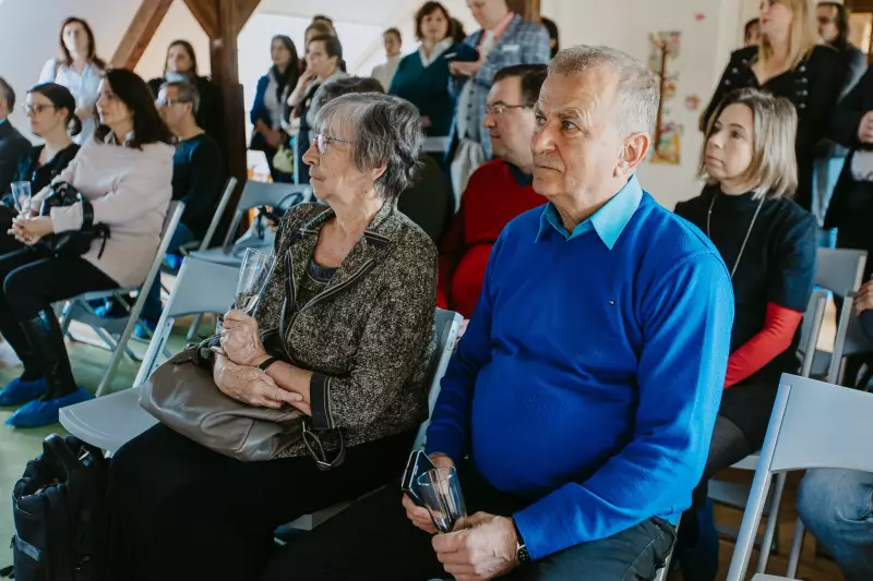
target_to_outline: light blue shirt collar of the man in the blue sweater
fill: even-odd
[[[643,189],[639,186],[636,173],[634,173],[624,184],[624,187],[612,196],[612,199],[607,202],[603,207],[595,211],[589,218],[578,223],[573,229],[573,233],[567,232],[566,228],[564,228],[561,216],[558,214],[558,208],[550,202],[546,205],[540,216],[539,232],[537,232],[536,240],[539,242],[546,235],[550,226],[564,237],[567,242],[594,230],[603,244],[609,250],[612,250],[622,231],[624,231],[624,227],[627,226],[636,208],[639,207],[641,199],[643,199]]]

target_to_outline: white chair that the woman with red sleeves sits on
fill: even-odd
[[[800,344],[798,346],[798,353],[801,355],[800,375],[802,377],[810,376],[813,360],[815,358],[815,346],[818,343],[818,335],[822,330],[825,310],[829,299],[830,291],[815,289],[813,290],[813,293],[810,296],[810,302],[806,305],[806,312],[803,315],[803,322],[800,327]],[[754,453],[737,462],[731,468],[754,471],[758,464],[758,455]],[[777,476],[773,495],[769,498],[769,503],[767,503],[767,506],[765,507],[767,525],[764,530],[764,535],[761,538],[762,548],[757,561],[757,572],[760,573],[764,572],[764,570],[767,568],[767,560],[769,559],[770,555],[769,547],[773,546],[773,541],[776,536],[776,526],[779,521],[779,505],[781,504],[785,483],[785,474]],[[749,489],[750,487],[745,484],[713,480],[709,482],[708,496],[715,503],[742,510],[749,499]],[[733,536],[736,530],[720,530],[720,532],[729,536]]]

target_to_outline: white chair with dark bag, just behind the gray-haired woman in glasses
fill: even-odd
[[[190,256],[208,261],[212,263],[240,266],[242,264],[241,253],[235,252],[234,239],[242,217],[252,208],[259,206],[294,206],[309,201],[312,197],[312,189],[309,185],[298,185],[292,183],[268,183],[249,180],[242,189],[242,195],[237,204],[234,219],[227,229],[224,244],[220,249],[204,249],[191,252]]]

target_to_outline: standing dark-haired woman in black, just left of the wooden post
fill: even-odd
[[[200,107],[194,111],[198,126],[219,144],[224,143],[224,106],[218,86],[198,73],[198,56],[188,40],[174,40],[167,47],[164,76],[148,82],[152,95],[157,98],[164,83],[184,82],[194,85],[200,96]]]

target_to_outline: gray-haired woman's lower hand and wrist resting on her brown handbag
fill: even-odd
[[[213,379],[227,397],[250,406],[274,410],[286,403],[298,406],[302,401],[303,397],[300,394],[282,389],[258,367],[237,365],[220,349],[213,348],[213,351],[215,352]]]

